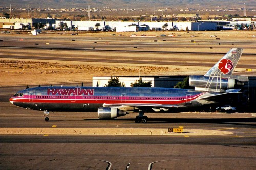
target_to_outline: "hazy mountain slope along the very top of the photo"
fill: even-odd
[[[27,8],[119,8],[119,9],[138,9],[138,8],[185,8],[188,4],[190,8],[244,8],[256,9],[255,0],[1,0],[0,7]],[[193,5],[192,5],[193,4]],[[194,7],[195,6],[195,7]]]

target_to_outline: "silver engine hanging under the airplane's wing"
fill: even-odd
[[[111,107],[98,108],[98,118],[99,119],[117,118],[117,117],[125,116],[125,115],[126,115],[126,111],[119,110],[117,108],[111,108]]]

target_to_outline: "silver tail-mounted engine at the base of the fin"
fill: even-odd
[[[244,83],[232,78],[189,76],[189,86],[207,89],[231,89],[243,86]]]

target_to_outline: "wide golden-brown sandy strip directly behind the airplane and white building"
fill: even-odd
[[[81,83],[92,81],[93,76],[138,76],[139,72],[141,75],[177,75],[181,74],[181,71],[185,74],[193,71],[193,68],[2,59],[0,60],[0,86]]]

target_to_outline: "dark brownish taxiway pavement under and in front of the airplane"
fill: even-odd
[[[0,128],[177,128],[232,132],[229,135],[0,135],[1,169],[255,169],[256,122],[251,114],[135,113],[99,120],[97,113],[54,113],[0,102]]]

